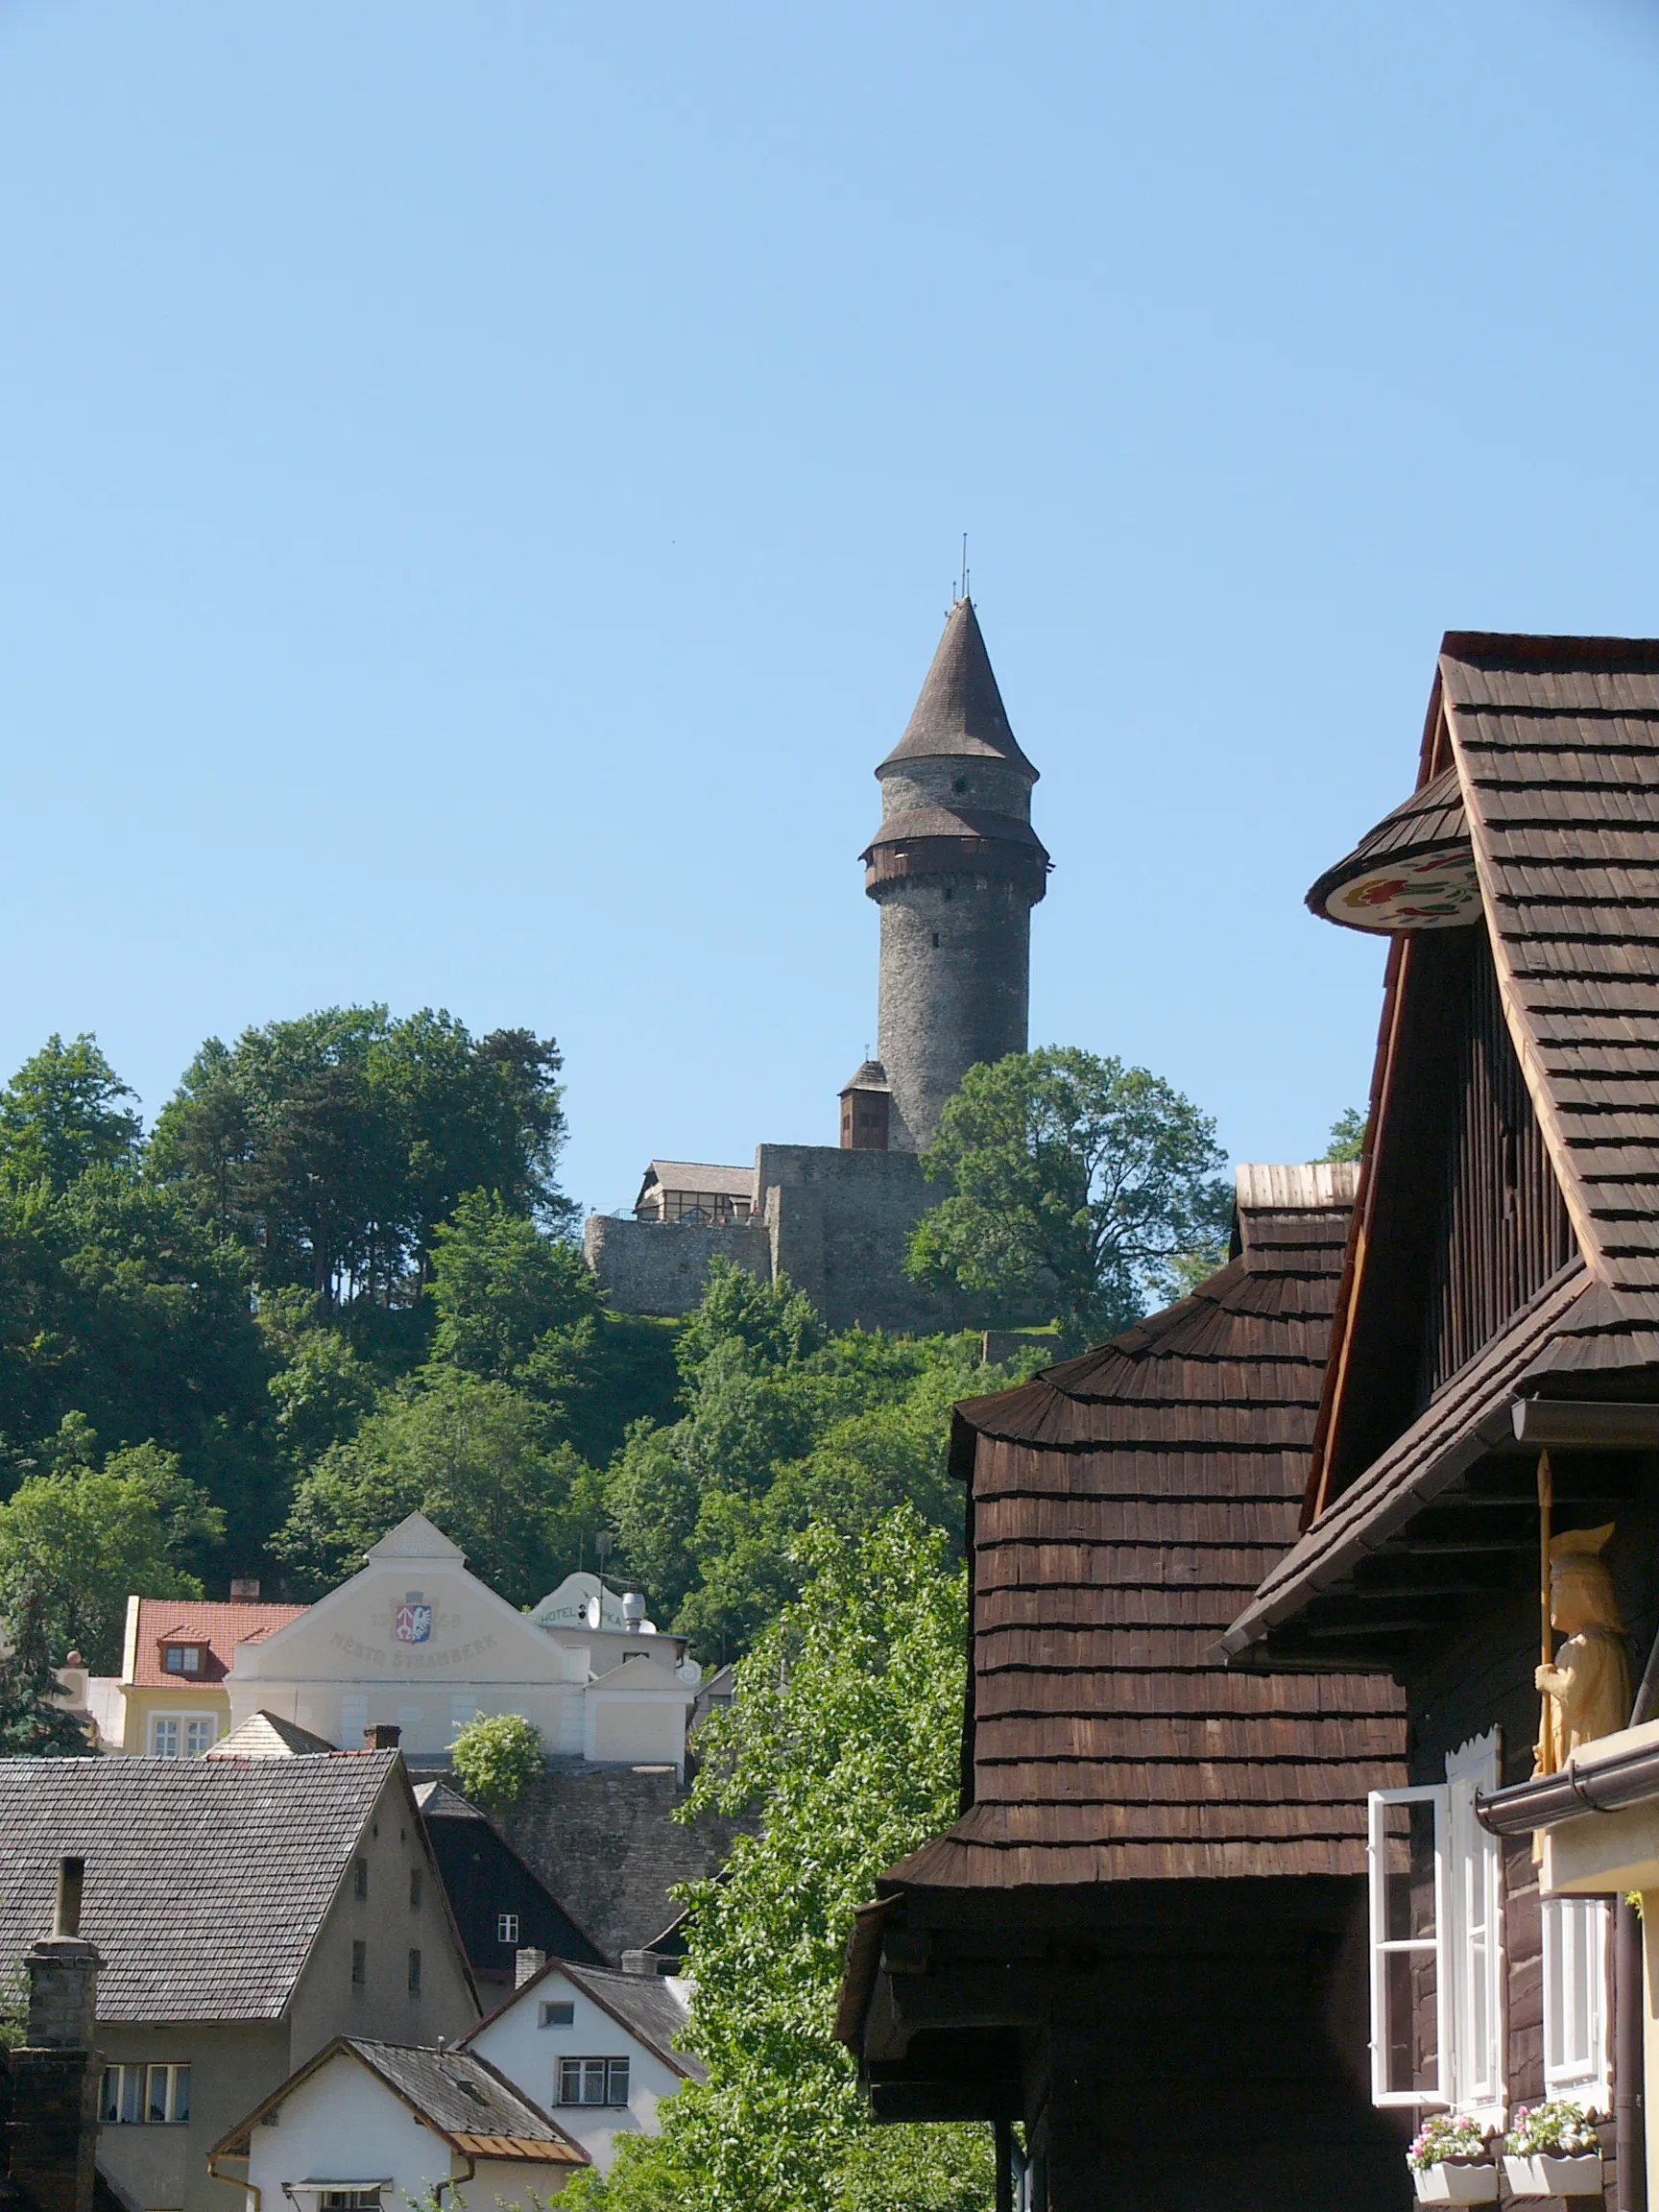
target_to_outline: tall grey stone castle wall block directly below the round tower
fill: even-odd
[[[951,1301],[905,1274],[909,1234],[942,1192],[914,1152],[763,1144],[757,1190],[772,1274],[787,1274],[832,1329],[953,1329]]]

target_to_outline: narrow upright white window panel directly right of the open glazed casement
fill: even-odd
[[[1502,1849],[1475,1818],[1475,1790],[1495,1790],[1498,1732],[1447,1759],[1449,2081],[1458,2112],[1498,2126],[1504,2106]]]

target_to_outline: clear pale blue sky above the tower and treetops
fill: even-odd
[[[0,0],[0,1062],[383,998],[588,1206],[832,1144],[967,529],[1033,1042],[1318,1150],[1440,633],[1659,633],[1657,170],[1635,0]]]

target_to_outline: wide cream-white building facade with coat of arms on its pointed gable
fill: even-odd
[[[608,1619],[582,1626],[582,1593],[560,1604],[562,1593],[568,1582],[520,1613],[467,1573],[460,1546],[411,1513],[338,1590],[263,1641],[237,1646],[226,1679],[230,1725],[265,1710],[352,1750],[372,1723],[394,1723],[407,1754],[431,1759],[471,1719],[518,1712],[549,1752],[684,1772],[697,1663],[672,1637],[646,1639]],[[566,1624],[571,1613],[577,1624]],[[626,1747],[606,1750],[613,1732],[588,1721],[588,1686],[644,1641],[653,1646],[650,1683],[635,1694],[650,1721],[622,1730]]]

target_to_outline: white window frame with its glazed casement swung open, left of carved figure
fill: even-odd
[[[1498,1730],[1447,1754],[1444,1783],[1374,1790],[1367,1818],[1371,1905],[1371,2104],[1436,2106],[1504,2126],[1504,1885],[1502,1847],[1475,1818],[1475,1790],[1500,1781]],[[1433,1936],[1387,1936],[1387,1807],[1433,1807]],[[1391,1953],[1433,1955],[1433,2084],[1387,2086],[1387,1975]]]

